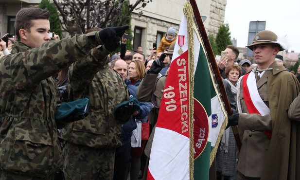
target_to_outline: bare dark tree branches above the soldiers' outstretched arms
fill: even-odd
[[[60,13],[62,28],[75,35],[82,34],[92,27],[124,25],[132,11],[145,7],[152,0],[136,0],[132,4],[129,4],[129,0],[53,0],[53,2]],[[124,8],[129,10],[121,13]],[[139,16],[141,14],[142,12],[139,12]]]

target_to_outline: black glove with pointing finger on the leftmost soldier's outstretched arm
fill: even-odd
[[[99,32],[99,37],[104,43],[107,51],[113,52],[121,45],[121,37],[124,35],[129,26],[107,27]]]

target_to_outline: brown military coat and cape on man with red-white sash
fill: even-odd
[[[296,167],[300,167],[300,161],[296,161],[297,153],[300,155],[300,143],[294,143],[300,135],[300,126],[287,117],[287,110],[298,95],[300,84],[283,66],[276,66],[276,62],[270,67],[273,70],[265,71],[257,82],[259,94],[270,108],[270,114],[248,114],[240,88],[238,100],[247,114],[239,117],[242,147],[237,169],[247,177],[261,177],[261,180],[300,179],[299,170],[296,171]],[[271,130],[272,138],[267,138],[262,130]]]

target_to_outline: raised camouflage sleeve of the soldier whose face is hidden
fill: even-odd
[[[70,99],[81,97],[95,74],[107,65],[108,51],[104,46],[98,46],[83,59],[74,62],[69,69]]]

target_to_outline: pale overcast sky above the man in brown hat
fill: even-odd
[[[288,52],[300,53],[300,0],[227,0],[225,23],[238,47],[247,46],[249,22],[266,21],[265,30],[284,37]]]

